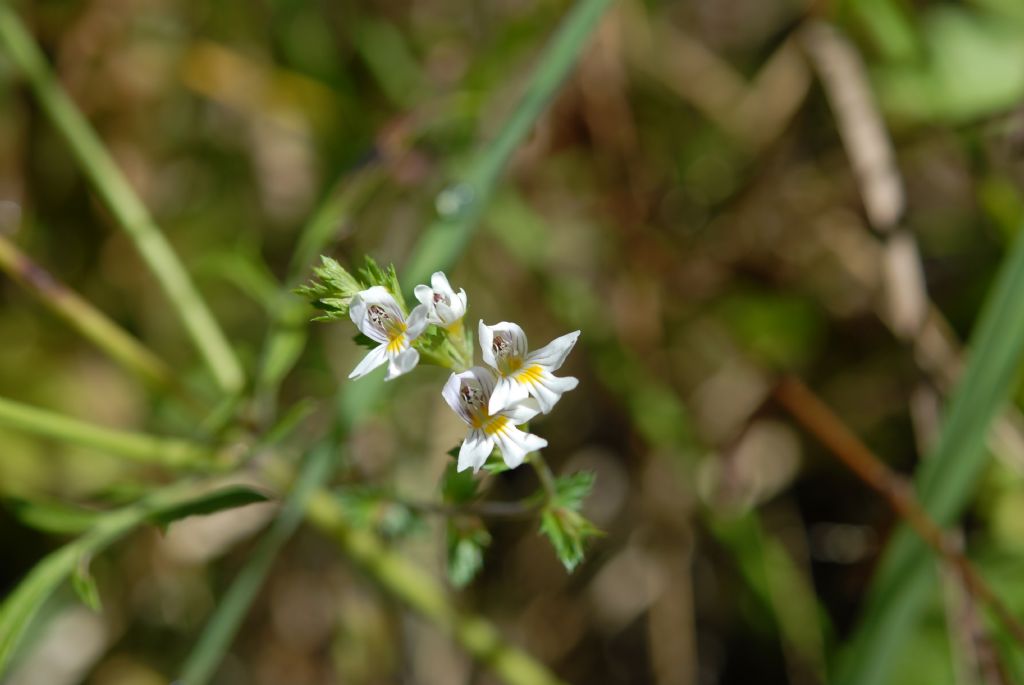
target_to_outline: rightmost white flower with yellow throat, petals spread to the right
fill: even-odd
[[[572,351],[579,331],[555,338],[534,352],[526,345],[522,329],[508,322],[485,326],[481,320],[479,337],[483,360],[498,372],[498,384],[488,405],[492,414],[530,395],[537,398],[541,411],[548,414],[563,392],[580,384],[571,376],[553,375]]]

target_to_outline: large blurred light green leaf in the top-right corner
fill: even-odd
[[[1024,97],[1024,28],[952,6],[924,24],[927,58],[880,67],[883,108],[922,122],[963,122],[1008,110]]]

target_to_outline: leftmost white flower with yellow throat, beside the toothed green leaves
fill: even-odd
[[[426,307],[416,307],[407,319],[391,293],[382,286],[374,286],[352,297],[348,315],[365,336],[380,343],[352,370],[349,378],[366,376],[387,361],[384,380],[390,381],[412,371],[420,360],[420,353],[412,344],[427,328]]]

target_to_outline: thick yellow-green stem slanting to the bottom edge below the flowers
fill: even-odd
[[[436,581],[390,552],[376,536],[349,527],[344,510],[330,493],[315,493],[306,515],[384,591],[451,635],[463,649],[508,685],[557,685],[561,682],[528,654],[506,643],[489,622],[458,611]]]

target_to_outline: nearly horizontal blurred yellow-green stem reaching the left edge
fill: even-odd
[[[0,397],[0,427],[173,469],[221,471],[216,452],[195,442],[105,428]]]

